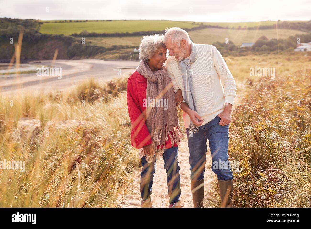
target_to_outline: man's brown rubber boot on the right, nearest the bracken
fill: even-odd
[[[218,180],[221,208],[232,208],[234,206],[233,179]]]

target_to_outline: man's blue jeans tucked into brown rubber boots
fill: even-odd
[[[189,147],[189,164],[192,180],[204,179],[206,164],[207,140],[212,156],[212,171],[217,175],[219,180],[232,180],[233,175],[228,161],[228,142],[229,142],[229,124],[219,125],[220,117],[216,116],[210,122],[199,127],[196,134],[190,133],[186,128],[188,147]],[[229,165],[229,166],[225,166]]]

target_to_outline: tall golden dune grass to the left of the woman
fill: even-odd
[[[0,207],[115,206],[138,166],[124,90],[123,78],[105,86],[90,80],[68,93],[2,96],[0,161],[24,161],[25,171],[0,170]],[[39,125],[27,126],[33,120]]]

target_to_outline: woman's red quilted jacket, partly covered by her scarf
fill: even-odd
[[[146,125],[146,107],[143,107],[143,99],[146,99],[147,79],[137,71],[128,78],[127,103],[128,114],[131,120],[131,145],[137,149],[152,143],[151,136]],[[170,131],[172,134],[172,131]],[[178,146],[176,143],[174,146]],[[159,149],[160,145],[158,145]],[[163,145],[161,145],[161,148]],[[165,149],[172,147],[171,141],[165,141]]]

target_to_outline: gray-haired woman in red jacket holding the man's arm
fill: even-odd
[[[169,207],[181,208],[178,146],[183,134],[176,103],[183,101],[183,98],[177,94],[175,98],[169,76],[163,68],[166,60],[163,35],[144,36],[139,48],[141,61],[128,78],[127,104],[131,120],[131,144],[139,149],[142,163],[141,206],[152,207],[156,160],[163,157]]]

